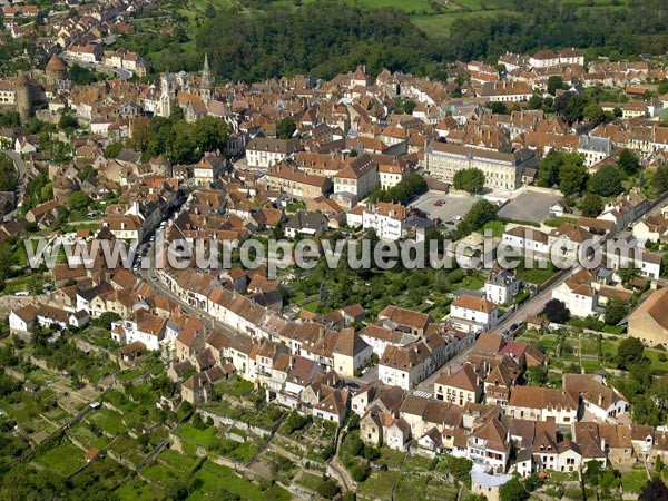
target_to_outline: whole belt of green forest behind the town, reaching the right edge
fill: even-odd
[[[668,4],[662,0],[628,0],[627,7],[606,9],[605,14],[557,0],[499,0],[502,13],[459,18],[448,37],[421,31],[404,10],[394,8],[369,9],[337,0],[295,8],[246,3],[212,8],[210,17],[188,36],[175,30],[175,43],[189,37],[195,50],[163,52],[153,61],[154,69],[199,70],[208,53],[214,72],[232,81],[296,73],[332,78],[357,65],[366,65],[371,75],[387,68],[444,78],[451,61],[495,62],[505,51],[579,47],[589,49],[590,57],[617,59],[668,50]],[[148,38],[155,41],[147,37],[134,40],[132,47],[150,52]]]

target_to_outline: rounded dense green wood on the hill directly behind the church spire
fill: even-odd
[[[372,73],[428,72],[442,48],[411,23],[404,11],[367,10],[334,1],[295,10],[267,7],[264,14],[220,11],[196,36],[199,53],[230,80],[310,72],[331,78],[365,63]]]

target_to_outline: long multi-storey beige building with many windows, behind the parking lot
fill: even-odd
[[[490,189],[519,188],[522,171],[534,163],[529,149],[501,153],[432,140],[424,150],[424,167],[436,179],[452,184],[459,170],[478,168]]]

